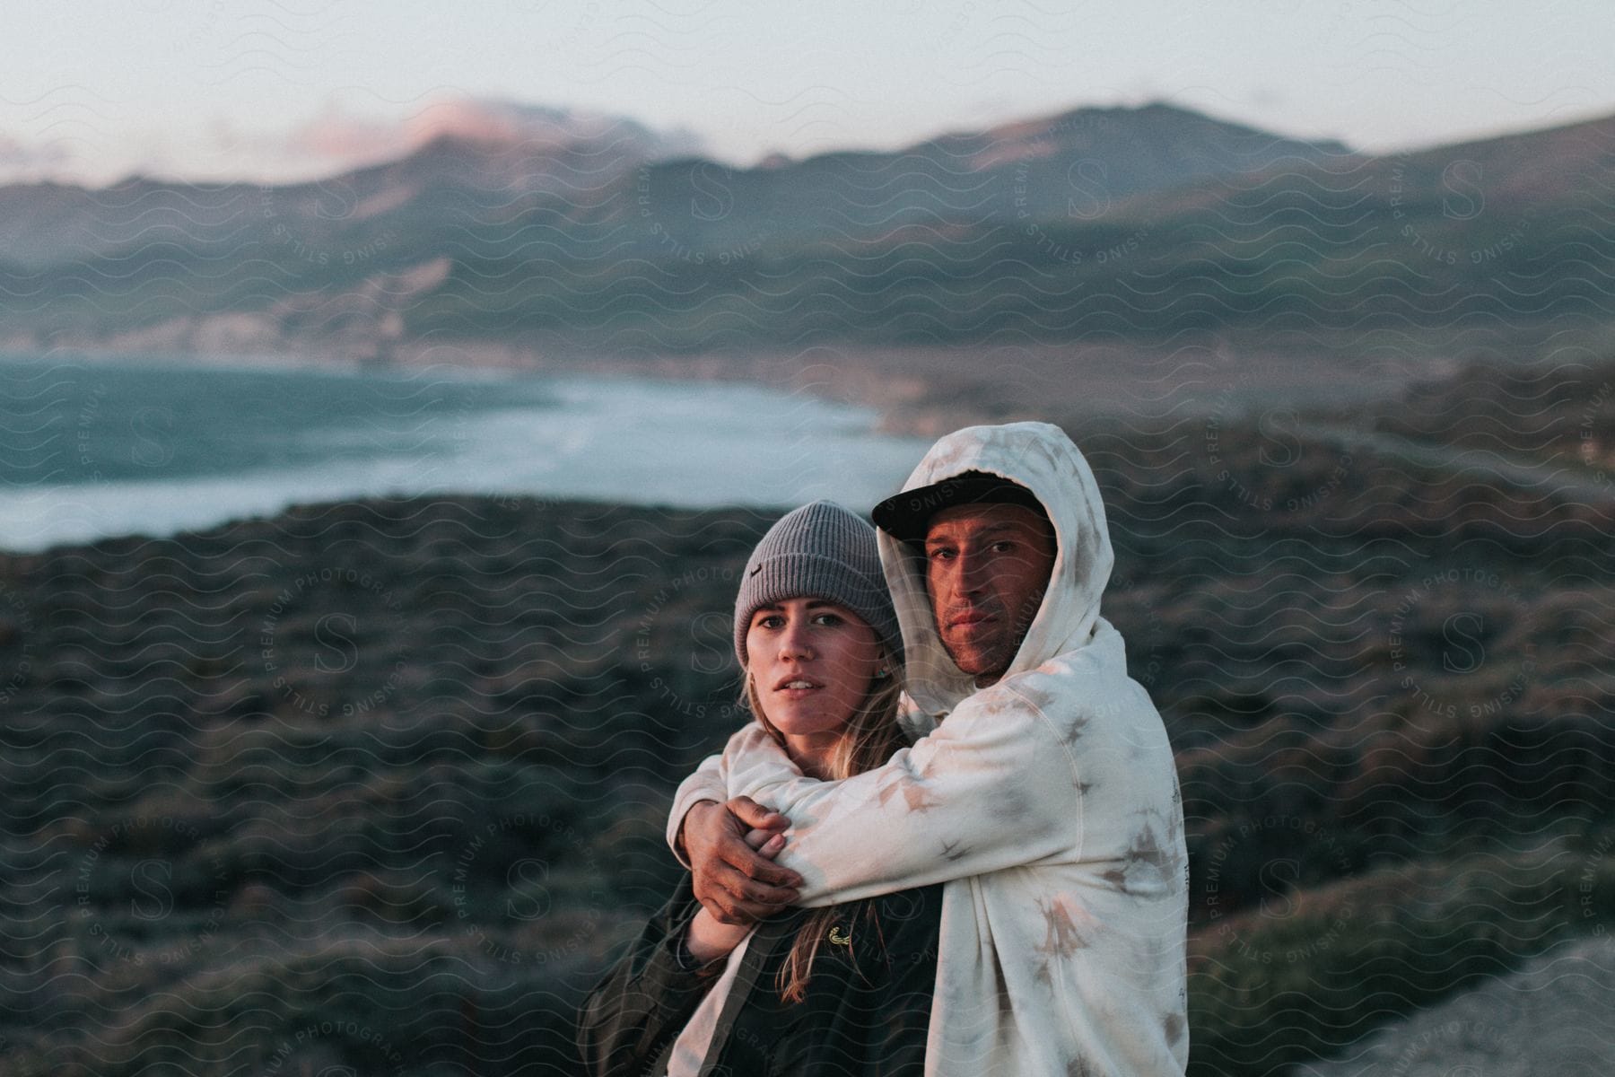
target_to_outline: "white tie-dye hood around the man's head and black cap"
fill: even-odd
[[[1050,423],[966,426],[930,447],[903,491],[917,491],[964,471],[985,471],[1026,486],[1055,525],[1058,549],[1048,589],[1005,677],[1037,668],[1089,643],[1114,554],[1105,502],[1082,452]],[[946,714],[975,693],[975,678],[954,665],[937,635],[925,591],[924,552],[880,531],[880,564],[903,631],[908,694],[922,710]]]

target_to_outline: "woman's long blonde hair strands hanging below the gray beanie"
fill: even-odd
[[[891,752],[909,743],[898,725],[903,672],[896,668],[896,662],[885,652],[880,656],[880,668],[888,670],[890,677],[875,681],[864,696],[864,702],[846,720],[841,738],[837,741],[835,751],[830,752],[825,765],[825,778],[830,782],[840,782],[841,778],[874,770],[890,759]],[[769,723],[769,717],[762,710],[762,701],[757,699],[757,686],[749,672],[746,673],[743,699],[751,714],[756,715],[757,723],[780,748],[785,748],[785,735]],[[861,901],[859,906],[862,909],[858,919],[864,920],[879,935],[880,922],[875,917],[875,903]],[[819,945],[824,941],[825,932],[841,919],[846,919],[845,912],[838,912],[837,906],[812,909],[803,919],[796,928],[796,940],[791,943],[791,949],[785,956],[785,964],[780,966],[780,974],[774,983],[783,1001],[799,1003],[808,996],[808,979],[812,970],[812,961],[819,956]],[[848,949],[851,949],[851,943]]]

